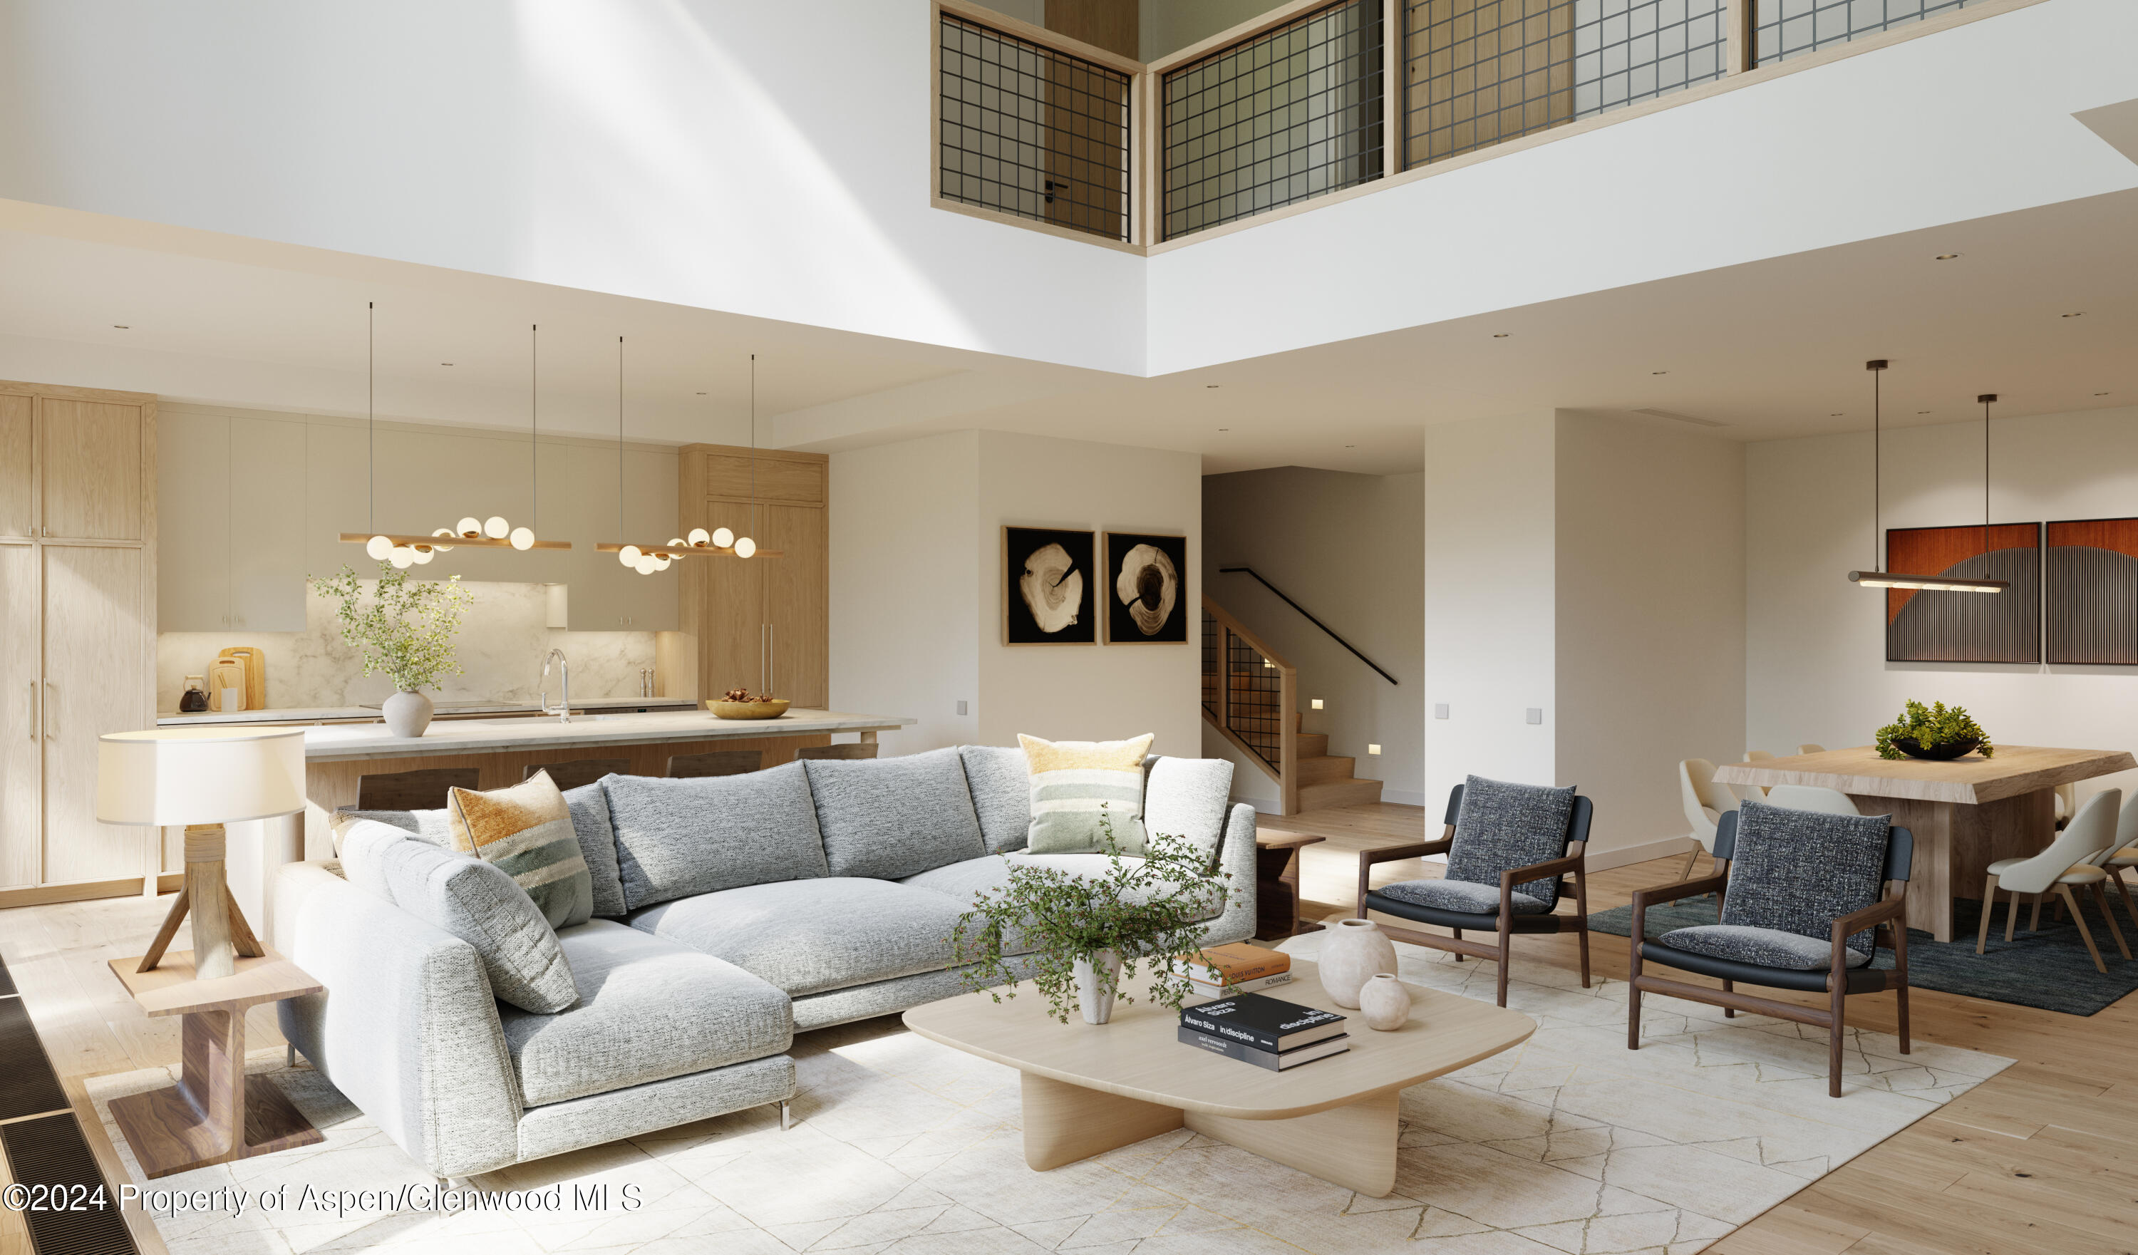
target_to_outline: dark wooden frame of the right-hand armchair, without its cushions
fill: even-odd
[[[1740,810],[1730,810],[1715,825],[1715,857],[1734,859],[1736,857],[1736,836],[1740,825]],[[1723,902],[1725,919],[1730,907],[1730,877],[1736,866],[1704,877],[1700,881],[1678,881],[1674,885],[1661,885],[1655,889],[1640,889],[1633,894],[1633,934],[1631,934],[1631,960],[1627,966],[1627,1050],[1640,1050],[1640,996],[1642,994],[1670,994],[1672,998],[1687,998],[1691,1003],[1706,1003],[1710,1007],[1721,1007],[1723,1016],[1736,1016],[1738,1011],[1753,1011],[1757,1016],[1772,1016],[1777,1020],[1790,1020],[1794,1024],[1811,1024],[1813,1028],[1828,1031],[1828,1082],[1826,1093],[1841,1097],[1841,1039],[1845,1026],[1845,1005],[1852,994],[1877,994],[1884,990],[1894,990],[1899,998],[1899,1031],[1901,1031],[1901,1054],[1909,1052],[1907,1039],[1907,872],[1916,857],[1916,838],[1905,827],[1894,827],[1886,838],[1886,864],[1881,870],[1881,900],[1841,915],[1832,921],[1830,954],[1828,962],[1822,966],[1800,969],[1800,966],[1770,966],[1753,964],[1734,958],[1719,958],[1713,954],[1693,954],[1685,949],[1674,949],[1661,941],[1646,939],[1648,907],[1659,907],[1663,902],[1676,902],[1678,898],[1695,898],[1702,894],[1717,894]],[[1892,971],[1881,971],[1864,964],[1849,964],[1847,939],[1864,928],[1873,930],[1871,956],[1877,958],[1877,949],[1892,949],[1894,966]],[[1764,930],[1762,930],[1764,932]],[[1809,941],[1809,939],[1807,939]],[[1817,943],[1813,943],[1817,945]],[[1706,977],[1721,979],[1719,990],[1708,986],[1691,986],[1685,981],[1674,981],[1668,977],[1655,977],[1644,971],[1644,962],[1655,962],[1663,966],[1674,966]],[[1760,998],[1753,994],[1736,992],[1736,986],[1766,986],[1775,990],[1804,990],[1830,994],[1828,1007],[1798,1007],[1796,1003],[1777,1003],[1772,998]]]

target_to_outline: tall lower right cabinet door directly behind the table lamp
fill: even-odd
[[[45,883],[143,870],[143,830],[96,823],[96,738],[148,721],[143,549],[45,545]]]

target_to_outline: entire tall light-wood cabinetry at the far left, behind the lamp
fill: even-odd
[[[158,870],[96,823],[96,738],[154,727],[154,659],[156,398],[0,381],[0,907]]]

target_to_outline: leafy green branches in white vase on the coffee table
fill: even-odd
[[[960,973],[964,988],[1001,1003],[1018,996],[1028,966],[1050,1016],[1067,1024],[1073,1007],[1086,1024],[1105,1024],[1116,998],[1135,1001],[1120,981],[1144,962],[1150,1001],[1180,1009],[1191,988],[1165,960],[1202,945],[1204,924],[1225,907],[1229,874],[1210,874],[1208,855],[1182,836],[1152,832],[1148,857],[1135,859],[1114,847],[1103,810],[1099,827],[1107,847],[1103,877],[1005,857],[1009,883],[975,894],[949,936],[956,962],[969,964]]]

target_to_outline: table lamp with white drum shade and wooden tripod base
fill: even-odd
[[[150,971],[192,913],[195,979],[227,977],[259,939],[222,881],[222,825],[304,810],[304,729],[160,727],[96,738],[100,823],[186,825],[186,885],[137,971]]]

